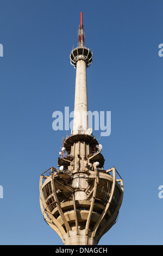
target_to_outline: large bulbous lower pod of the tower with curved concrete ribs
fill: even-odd
[[[81,175],[78,173],[78,177]],[[115,167],[97,170],[95,163],[85,176],[86,188],[79,187],[77,182],[74,186],[78,177],[53,167],[40,176],[43,218],[65,245],[97,245],[116,223],[123,199],[123,181]],[[77,191],[84,191],[86,198],[76,200]]]

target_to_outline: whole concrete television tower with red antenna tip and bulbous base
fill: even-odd
[[[78,47],[70,59],[76,68],[73,131],[63,139],[59,169],[51,167],[40,176],[40,206],[65,245],[97,245],[116,223],[123,181],[115,167],[104,169],[102,145],[88,127],[86,68],[92,53],[85,47],[82,13]]]

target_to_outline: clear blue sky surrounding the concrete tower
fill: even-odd
[[[99,143],[105,169],[124,182],[118,221],[99,245],[162,245],[162,9],[159,0],[0,1],[1,245],[62,245],[43,220],[39,179],[57,167],[66,136],[52,114],[73,111],[80,11],[93,51],[89,109],[111,111]]]

